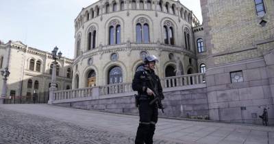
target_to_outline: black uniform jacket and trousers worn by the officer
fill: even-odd
[[[140,123],[135,143],[153,143],[155,123],[158,121],[158,105],[155,103],[149,105],[149,101],[151,101],[154,96],[147,95],[147,88],[150,88],[152,91],[154,91],[154,88],[157,88],[154,93],[158,93],[159,97],[164,99],[160,79],[158,75],[155,75],[153,70],[143,69],[135,73],[132,88],[134,91],[138,91],[138,95],[140,96],[138,106]]]

